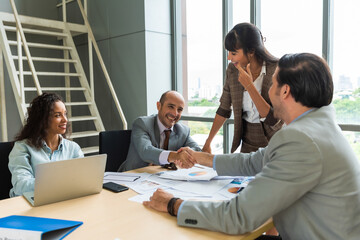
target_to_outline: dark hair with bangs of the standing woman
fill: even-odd
[[[225,37],[225,48],[231,52],[242,49],[245,55],[248,52],[254,52],[256,59],[261,64],[262,61],[272,63],[278,61],[266,50],[261,31],[251,23],[235,25]]]

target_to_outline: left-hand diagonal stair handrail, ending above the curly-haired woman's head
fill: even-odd
[[[41,91],[41,88],[40,88],[39,79],[38,79],[37,73],[35,71],[35,66],[34,66],[34,63],[32,61],[31,55],[30,55],[30,50],[29,50],[29,47],[27,45],[24,30],[22,28],[21,21],[19,19],[19,14],[18,14],[18,12],[16,10],[16,5],[15,5],[14,0],[10,0],[10,4],[11,4],[11,7],[13,9],[14,17],[15,17],[15,21],[16,21],[16,28],[17,28],[16,31],[20,34],[20,38],[21,38],[21,41],[23,43],[24,51],[25,51],[25,54],[26,54],[26,57],[27,57],[27,60],[28,60],[28,63],[29,63],[29,67],[30,67],[30,70],[31,70],[31,73],[32,73],[32,77],[34,79],[37,94],[41,95],[42,91]],[[19,59],[18,61],[22,61],[22,59]],[[22,96],[22,98],[23,98],[23,96]]]

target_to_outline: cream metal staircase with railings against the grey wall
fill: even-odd
[[[68,1],[69,2],[69,1]],[[40,19],[40,18],[34,18],[34,17],[27,17],[27,16],[21,16],[18,15],[18,12],[16,10],[16,6],[14,3],[14,0],[10,0],[11,6],[13,8],[13,12],[14,14],[9,14],[9,13],[0,13],[0,114],[1,114],[1,128],[2,128],[2,140],[6,141],[7,140],[7,123],[6,123],[6,109],[5,109],[5,89],[4,89],[4,69],[3,69],[3,56],[6,62],[6,66],[8,68],[8,73],[10,76],[10,81],[12,84],[12,88],[14,91],[14,95],[15,95],[15,100],[16,100],[16,104],[18,106],[19,109],[19,113],[20,113],[20,118],[21,118],[21,122],[24,121],[24,117],[26,115],[26,108],[29,106],[28,103],[26,103],[25,101],[29,100],[29,96],[33,93],[29,92],[36,92],[37,95],[41,94],[42,91],[52,91],[52,92],[65,92],[65,105],[66,106],[70,106],[68,108],[69,110],[69,121],[70,122],[78,122],[78,121],[87,121],[90,122],[92,121],[95,125],[96,130],[85,130],[85,128],[83,127],[84,125],[79,123],[77,124],[77,126],[80,126],[80,129],[76,128],[75,130],[77,131],[82,131],[82,132],[73,132],[73,134],[70,136],[70,138],[84,138],[84,137],[88,137],[88,136],[97,136],[99,131],[104,131],[104,126],[100,117],[100,114],[98,112],[98,109],[96,107],[95,104],[95,100],[94,100],[94,81],[93,81],[93,63],[92,63],[92,51],[95,50],[97,57],[99,59],[102,71],[104,73],[105,79],[107,81],[107,85],[110,89],[110,92],[112,94],[112,97],[114,99],[115,105],[117,107],[117,110],[119,112],[119,116],[122,120],[123,123],[123,128],[127,129],[127,122],[125,119],[125,116],[123,114],[123,111],[121,109],[121,106],[119,104],[118,98],[116,96],[115,90],[113,88],[112,82],[110,80],[109,74],[107,72],[107,69],[105,67],[104,61],[102,59],[102,56],[100,55],[100,51],[99,51],[99,47],[97,45],[97,42],[95,40],[95,37],[92,33],[92,30],[90,28],[88,19],[86,17],[84,8],[81,4],[81,1],[78,1],[78,5],[81,11],[81,14],[83,16],[84,19],[84,24],[74,24],[74,23],[68,23],[66,22],[66,7],[63,9],[63,21],[54,21],[54,20],[48,20],[48,19]],[[66,1],[63,0],[62,1],[63,5],[66,5]],[[87,1],[85,0],[85,8],[87,6]],[[23,24],[23,25],[22,25]],[[90,72],[90,82],[88,82],[87,78],[86,78],[86,74],[84,72],[84,69],[82,68],[81,65],[81,61],[80,58],[78,56],[78,53],[76,51],[76,46],[74,44],[73,41],[73,36],[74,35],[78,35],[78,34],[83,34],[83,33],[87,33],[88,34],[88,43],[89,43],[89,72]],[[46,37],[44,37],[44,39],[49,39],[50,40],[50,44],[45,43],[44,41],[40,41],[37,42],[34,38],[33,40],[35,40],[34,42],[32,41],[27,41],[26,37],[28,37],[28,35],[25,34],[30,34],[30,35],[44,35]],[[7,37],[7,35],[9,37]],[[14,39],[15,37],[15,39]],[[54,37],[57,40],[62,40],[62,44],[60,45],[55,45],[54,41],[52,39],[54,39]],[[31,39],[31,38],[29,38]],[[57,41],[59,42],[59,41]],[[58,56],[55,57],[43,57],[43,56],[31,56],[31,53],[35,53],[32,52],[33,48],[38,48],[38,49],[49,49],[57,52],[57,51],[63,51],[63,58],[59,58]],[[14,52],[17,50],[17,53],[14,54]],[[31,53],[30,53],[31,50]],[[57,51],[56,51],[57,50]],[[25,54],[23,55],[23,51],[25,52]],[[35,50],[34,50],[35,51]],[[3,54],[2,54],[3,53]],[[58,54],[58,53],[56,53]],[[41,54],[40,54],[41,55]],[[16,61],[18,61],[16,63]],[[25,62],[23,62],[25,61]],[[63,63],[63,72],[59,72],[58,70],[56,71],[51,71],[49,68],[49,70],[41,70],[41,71],[37,71],[35,69],[35,66],[38,65],[34,65],[37,64],[36,62],[55,62],[55,63]],[[25,65],[25,63],[28,63]],[[52,65],[53,66],[53,65]],[[54,65],[55,66],[55,65]],[[38,66],[39,69],[41,67]],[[75,69],[76,72],[73,72],[73,70]],[[33,84],[31,86],[31,82],[28,82],[26,76],[32,76],[33,79]],[[40,79],[38,78],[40,77]],[[41,85],[48,85],[48,81],[46,81],[48,78],[59,78],[61,77],[63,79],[64,82],[62,82],[62,84],[64,85],[58,85],[55,84],[53,85],[53,87],[41,87]],[[72,80],[70,80],[70,78]],[[75,79],[78,79],[80,81],[80,85],[76,84],[76,82],[73,83],[73,81]],[[24,80],[25,79],[25,80]],[[41,81],[40,81],[41,80]],[[45,82],[44,82],[45,81]],[[26,84],[25,84],[25,83]],[[55,83],[55,82],[54,82]],[[89,85],[90,83],[90,85]],[[74,86],[72,86],[74,85]],[[81,96],[77,95],[77,93],[75,94],[75,92],[70,92],[70,91],[79,91],[82,92],[84,95],[85,100],[80,100]],[[25,98],[25,93],[26,93],[26,98]],[[77,99],[79,100],[75,100],[77,102],[72,102],[72,94],[75,94],[74,97],[76,96]],[[79,98],[80,97],[80,98]],[[73,113],[75,114],[75,116],[72,116],[71,114],[71,109],[72,106],[77,107],[77,106],[82,106],[82,105],[87,105],[87,109],[90,112],[90,115],[85,113],[84,115],[87,116],[77,116],[79,115],[79,112],[75,109],[73,109]],[[78,109],[78,107],[77,107]],[[77,114],[76,114],[77,113]],[[81,113],[80,113],[81,114]],[[75,125],[75,124],[74,124]],[[89,125],[90,126],[90,125]],[[86,127],[87,128],[87,127]],[[81,130],[83,129],[83,130]],[[93,142],[93,141],[91,141]],[[85,143],[85,142],[84,142]],[[89,142],[90,143],[90,142]],[[96,150],[96,146],[95,147],[86,147],[86,150],[90,150],[90,148],[92,148],[89,152],[95,152]]]

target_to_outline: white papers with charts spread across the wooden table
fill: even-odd
[[[149,200],[158,188],[184,200],[228,200],[240,194],[252,179],[253,177],[218,176],[214,169],[198,164],[189,169],[156,174],[106,172],[104,175],[104,183],[119,183],[139,193],[129,199],[135,202]]]

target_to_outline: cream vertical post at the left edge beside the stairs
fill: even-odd
[[[3,54],[0,48],[0,116],[1,116],[1,140],[8,141],[7,122],[6,122],[6,103],[5,103],[5,75]]]

